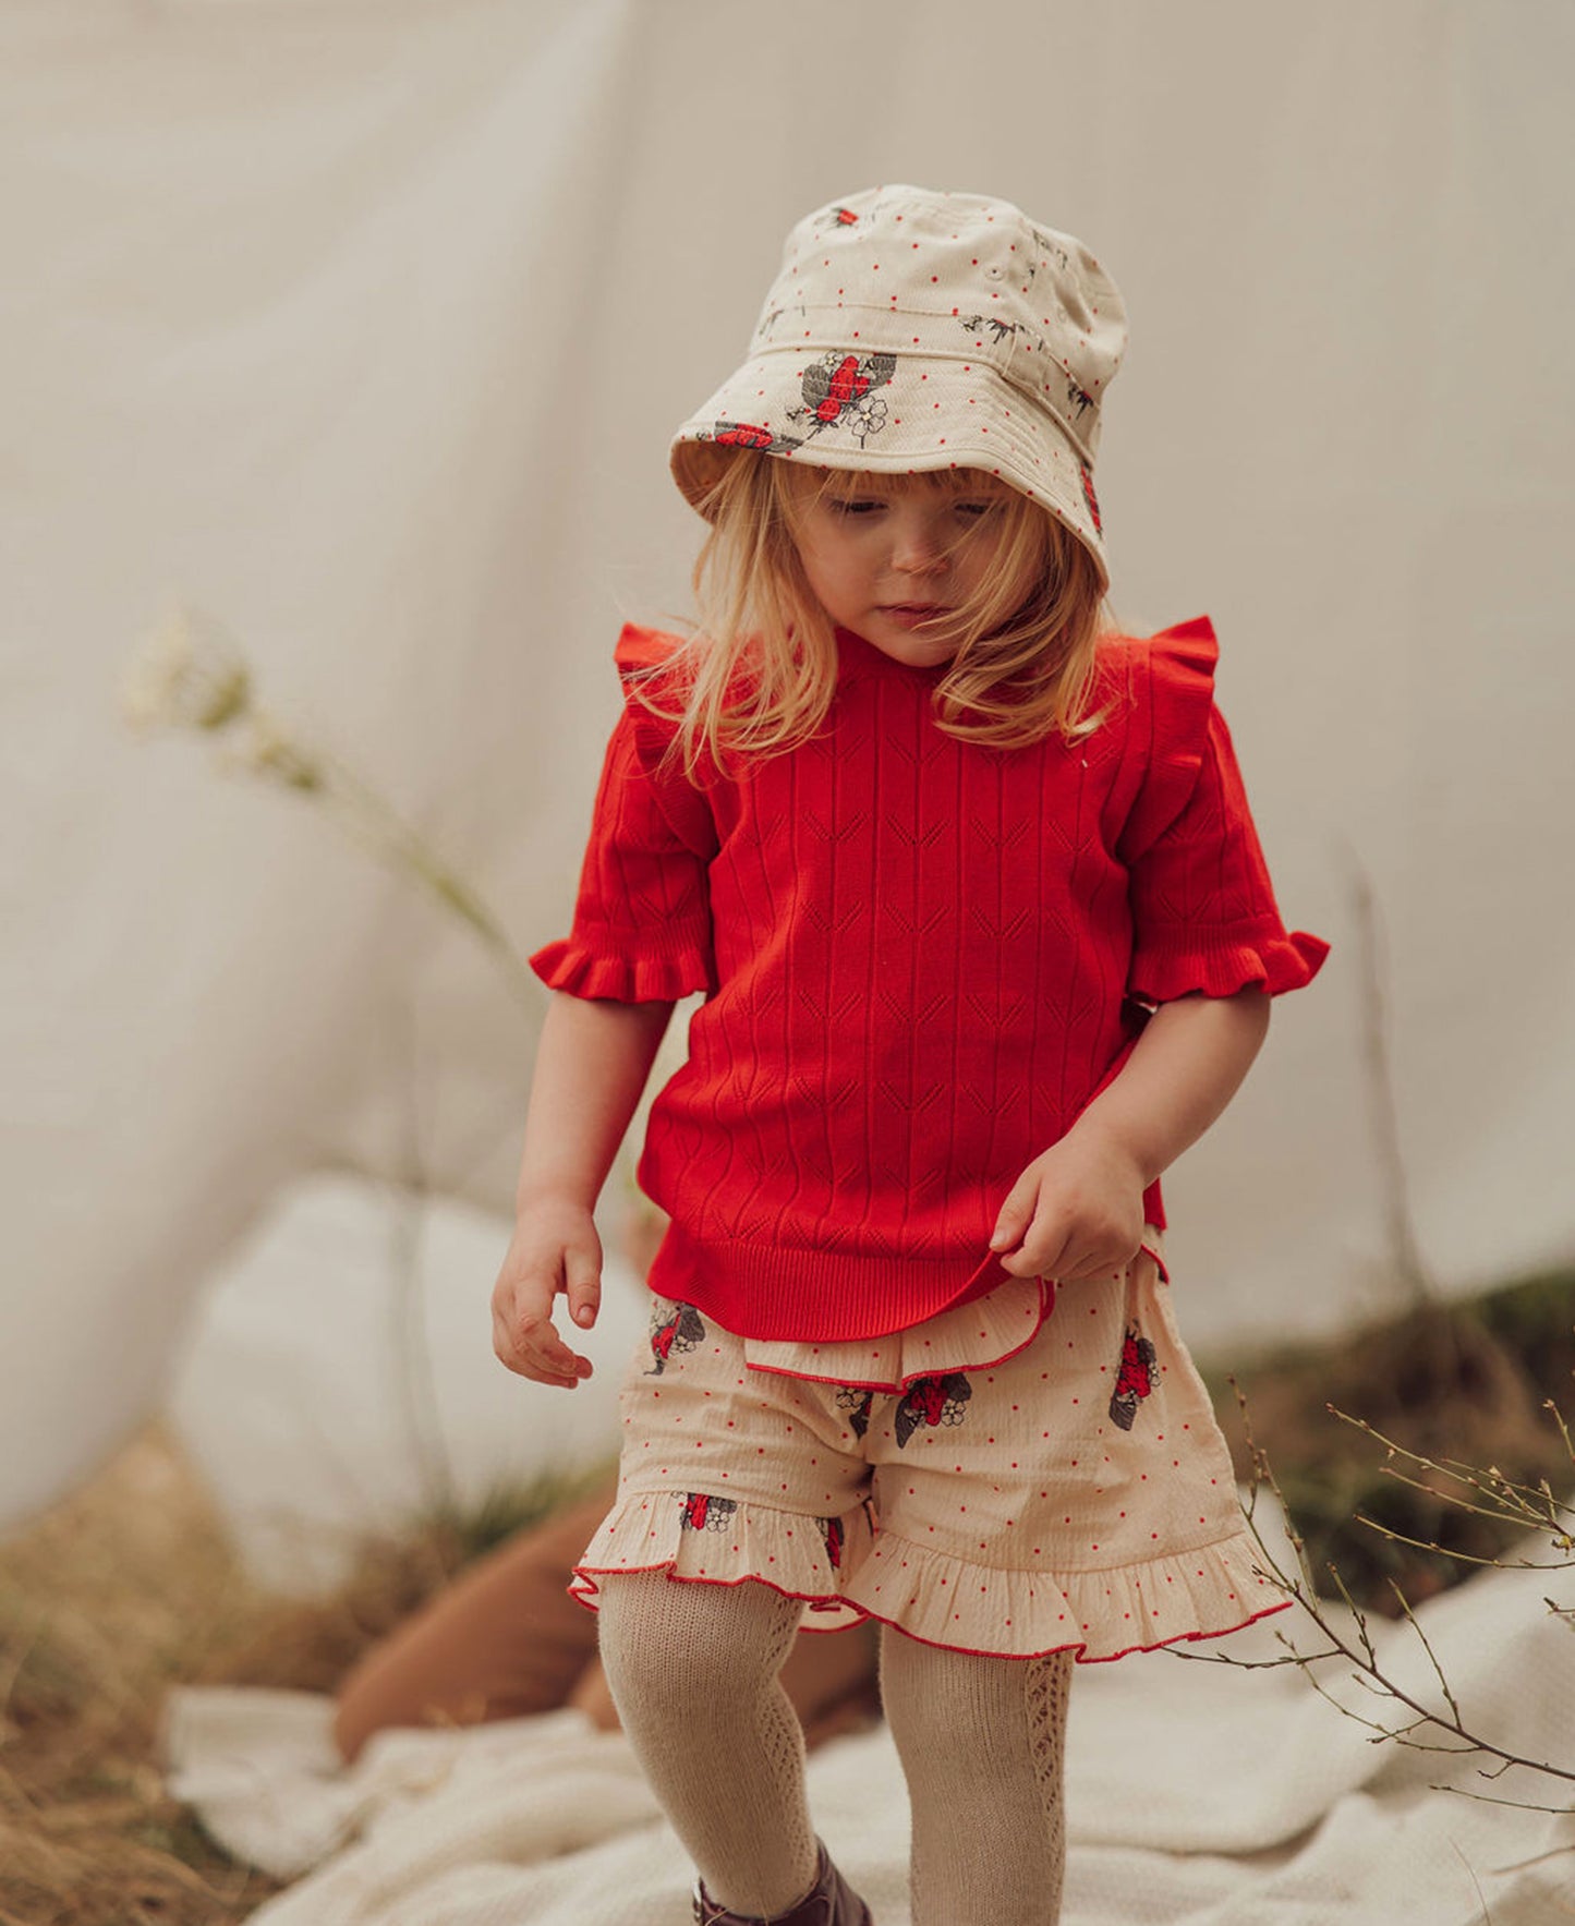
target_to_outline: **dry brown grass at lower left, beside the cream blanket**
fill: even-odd
[[[570,1495],[503,1495],[462,1525],[368,1545],[320,1602],[279,1601],[231,1552],[200,1479],[150,1427],[0,1547],[0,1926],[231,1926],[277,1886],[164,1791],[177,1683],[331,1691],[466,1558]]]

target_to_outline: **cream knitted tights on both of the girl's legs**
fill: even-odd
[[[803,1735],[778,1683],[799,1606],[768,1585],[608,1577],[601,1651],[653,1791],[734,1913],[814,1884]],[[976,1658],[886,1629],[880,1689],[913,1805],[913,1926],[1061,1918],[1071,1654]]]

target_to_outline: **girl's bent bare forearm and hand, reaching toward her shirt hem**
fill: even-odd
[[[1121,1075],[1013,1184],[990,1248],[1013,1277],[1072,1283],[1138,1252],[1144,1190],[1219,1117],[1269,1030],[1269,996],[1161,1003]]]

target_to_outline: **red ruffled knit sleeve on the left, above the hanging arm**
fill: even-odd
[[[618,1003],[678,1002],[716,988],[709,865],[716,826],[703,790],[668,757],[674,722],[641,701],[637,670],[674,639],[618,638],[624,713],[607,745],[566,938],[531,955],[549,990]]]

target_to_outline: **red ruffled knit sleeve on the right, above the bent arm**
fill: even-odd
[[[1134,664],[1132,728],[1148,763],[1119,853],[1134,926],[1126,988],[1148,1003],[1252,986],[1271,996],[1300,990],[1329,953],[1323,938],[1280,921],[1230,730],[1215,707],[1217,657],[1203,616],[1155,636]]]

